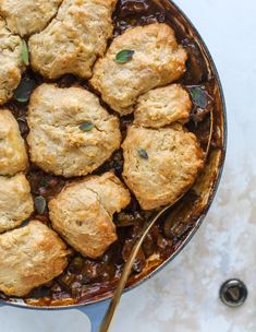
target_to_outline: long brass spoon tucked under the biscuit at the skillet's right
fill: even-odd
[[[209,140],[208,140],[208,144],[207,144],[207,149],[206,149],[206,152],[205,152],[205,162],[208,157],[208,154],[209,154],[209,150],[210,150],[210,144],[211,144],[211,139],[212,139],[212,132],[214,132],[214,114],[212,114],[212,110],[210,111],[210,130],[209,130]],[[190,190],[191,188],[187,189],[187,191]],[[130,273],[132,271],[132,268],[133,268],[133,263],[138,254],[138,251],[148,234],[148,232],[150,232],[150,229],[153,228],[153,226],[159,221],[159,218],[163,215],[164,212],[167,212],[169,209],[171,209],[174,204],[176,204],[186,193],[184,192],[181,197],[179,197],[174,203],[172,203],[171,205],[168,205],[166,208],[163,208],[160,212],[158,212],[156,214],[156,216],[154,216],[149,222],[147,222],[141,233],[141,236],[137,240],[137,242],[134,245],[133,247],[133,250],[129,257],[129,260],[126,261],[125,265],[124,265],[124,269],[123,269],[123,272],[122,272],[122,275],[120,277],[120,281],[118,283],[118,286],[114,290],[114,294],[113,294],[113,297],[109,304],[109,307],[108,307],[108,310],[103,317],[103,320],[100,324],[100,328],[99,328],[99,332],[108,332],[109,331],[109,328],[111,325],[111,322],[112,322],[112,319],[114,317],[114,313],[115,313],[115,310],[118,308],[118,305],[120,303],[120,298],[122,296],[122,293],[123,293],[123,289],[125,288],[125,285],[127,283],[127,280],[129,280],[129,276],[130,276]]]

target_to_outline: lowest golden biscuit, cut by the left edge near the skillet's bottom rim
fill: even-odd
[[[38,221],[0,235],[0,290],[25,296],[68,265],[65,244]]]

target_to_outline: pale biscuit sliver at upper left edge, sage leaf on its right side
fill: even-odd
[[[23,71],[22,39],[12,35],[0,17],[0,105],[12,97]]]

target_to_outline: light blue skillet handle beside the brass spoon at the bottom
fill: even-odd
[[[90,332],[98,332],[101,321],[108,310],[110,300],[105,300],[95,305],[78,308],[90,321]]]

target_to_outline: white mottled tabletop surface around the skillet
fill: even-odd
[[[223,84],[229,146],[216,201],[191,244],[167,269],[122,298],[113,332],[256,331],[256,1],[175,0],[208,45]],[[230,277],[248,287],[244,306],[223,306]],[[0,309],[1,332],[89,331],[76,311]]]

